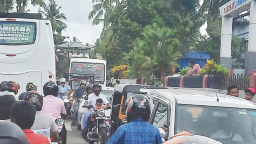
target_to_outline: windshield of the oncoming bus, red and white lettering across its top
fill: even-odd
[[[72,62],[71,73],[94,74],[95,82],[104,84],[105,65],[103,63]]]

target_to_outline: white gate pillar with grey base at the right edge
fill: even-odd
[[[256,1],[251,2],[248,52],[245,55],[245,74],[256,69]]]

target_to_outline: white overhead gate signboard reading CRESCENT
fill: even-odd
[[[250,9],[250,2],[253,0],[231,0],[219,7],[221,17],[236,16],[237,14]]]

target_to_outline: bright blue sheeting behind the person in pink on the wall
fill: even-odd
[[[189,67],[189,61],[191,59],[194,59],[196,63],[200,65],[201,68],[206,64],[207,59],[211,59],[210,55],[205,52],[187,52],[183,55],[183,57],[180,59],[180,66],[181,69],[184,67]]]

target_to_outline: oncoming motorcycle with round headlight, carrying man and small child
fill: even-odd
[[[92,105],[87,106],[88,110],[92,107]],[[94,111],[95,113],[88,118],[86,142],[89,144],[94,142],[105,144],[109,136],[109,127],[106,125],[106,122],[109,123],[110,118],[106,117],[104,109],[94,109]]]

